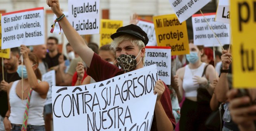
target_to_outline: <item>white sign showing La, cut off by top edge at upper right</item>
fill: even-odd
[[[215,20],[230,24],[229,0],[219,0]]]

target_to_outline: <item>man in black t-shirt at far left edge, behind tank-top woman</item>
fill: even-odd
[[[8,110],[8,99],[7,99],[7,86],[10,82],[21,79],[17,73],[19,65],[19,48],[12,48],[10,52],[10,59],[3,59],[3,64],[6,69],[4,72],[4,80],[2,74],[0,76],[0,131],[5,131],[3,126],[3,119]]]

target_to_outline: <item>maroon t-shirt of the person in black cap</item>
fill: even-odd
[[[90,68],[87,69],[87,74],[91,76],[96,82],[104,81],[109,78],[124,74],[125,72],[122,69],[110,64],[109,62],[102,60],[99,55],[93,54],[92,62]],[[164,82],[163,82],[164,83]],[[170,90],[165,86],[165,91],[160,99],[161,104],[164,108],[164,111],[168,118],[170,119],[171,123],[173,124],[173,129],[176,126],[175,118],[173,116],[172,107],[171,107],[171,97],[170,97]],[[156,131],[156,119],[154,117],[152,121],[151,131]]]

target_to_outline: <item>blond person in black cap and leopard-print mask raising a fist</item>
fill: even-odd
[[[57,17],[62,16],[59,0],[47,0],[47,4]],[[111,35],[113,42],[111,48],[115,50],[118,65],[121,69],[102,60],[86,44],[83,38],[74,30],[67,18],[59,21],[67,40],[73,49],[81,56],[88,66],[87,74],[96,82],[130,72],[144,67],[145,45],[149,42],[147,34],[137,25],[120,27],[116,33]],[[154,118],[151,131],[172,131],[175,128],[170,91],[166,84],[158,80],[154,86],[157,101],[154,109]]]

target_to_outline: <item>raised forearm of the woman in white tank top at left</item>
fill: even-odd
[[[24,59],[24,64],[26,66],[26,70],[27,70],[27,73],[28,73],[29,86],[33,90],[36,90],[39,86],[39,83],[37,81],[36,74],[35,74],[33,68],[31,67],[31,62],[30,62],[29,58]]]

